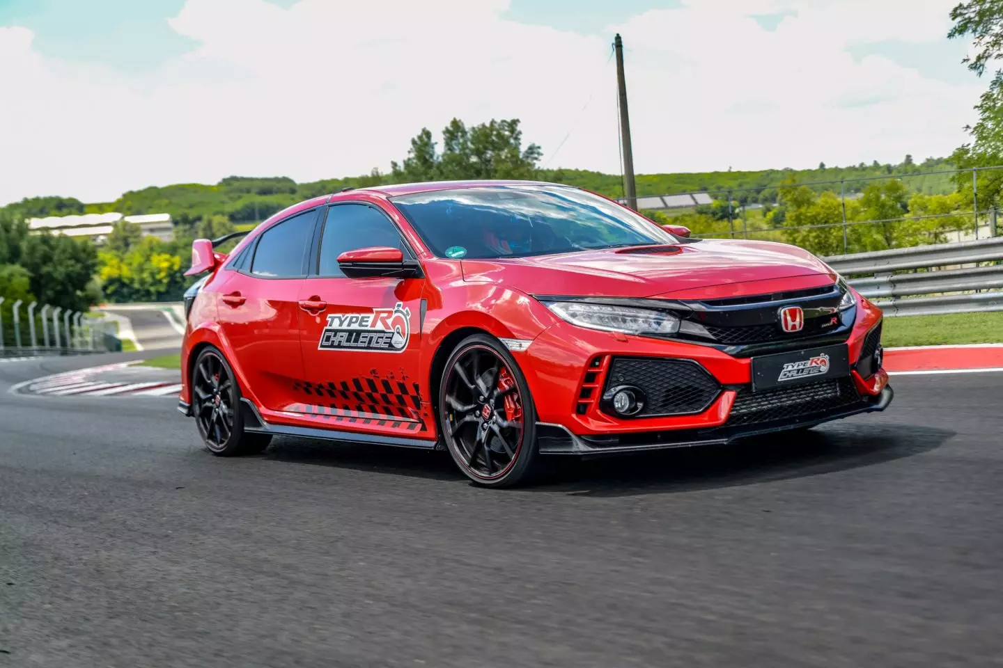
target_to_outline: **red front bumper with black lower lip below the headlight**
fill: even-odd
[[[839,341],[848,348],[850,376],[785,389],[780,393],[782,397],[769,391],[751,392],[752,357],[768,351],[732,355],[732,351],[689,342],[557,323],[534,340],[526,352],[517,354],[521,363],[527,363],[521,367],[537,408],[541,452],[585,454],[720,444],[883,411],[893,397],[887,388],[888,375],[865,362],[880,362],[874,349],[881,336],[881,310],[861,298],[855,315],[852,326],[844,329]],[[819,342],[807,338],[799,348],[809,350],[820,343],[837,343],[830,339]],[[694,401],[687,405],[688,412],[650,412],[630,418],[611,415],[613,412],[602,406],[601,398],[613,385],[610,379],[614,378],[615,362],[624,359],[695,363],[716,382],[709,395],[701,396],[709,403]],[[687,368],[673,364],[673,370]],[[663,365],[664,369],[670,367]],[[675,378],[676,373],[670,375]],[[615,378],[618,383],[634,385],[627,369]],[[661,392],[656,395],[664,396]]]

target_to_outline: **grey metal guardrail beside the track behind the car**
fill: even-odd
[[[823,257],[886,316],[1003,310],[1003,237]],[[971,265],[971,266],[963,266]],[[961,268],[940,268],[955,267]],[[913,273],[895,273],[921,269]],[[929,296],[917,296],[929,295]],[[887,298],[882,298],[887,297]]]

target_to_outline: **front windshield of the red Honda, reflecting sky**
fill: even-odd
[[[439,257],[525,257],[678,241],[647,218],[571,187],[456,188],[391,201]]]

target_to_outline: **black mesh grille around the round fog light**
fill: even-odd
[[[685,360],[615,358],[606,390],[620,385],[638,387],[647,395],[635,418],[702,413],[720,392],[714,377]]]

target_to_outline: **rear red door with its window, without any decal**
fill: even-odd
[[[317,213],[311,209],[269,226],[233,269],[224,269],[218,290],[231,362],[244,376],[245,392],[272,411],[295,401],[293,386],[303,379],[299,292]]]

